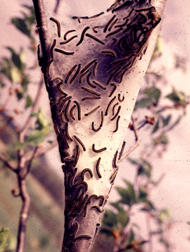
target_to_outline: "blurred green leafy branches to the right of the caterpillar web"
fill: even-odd
[[[114,203],[110,202],[110,209],[106,210],[102,219],[100,231],[112,237],[113,250],[117,252],[152,251],[154,236],[158,237],[165,251],[170,251],[172,246],[167,235],[173,225],[170,211],[167,208],[159,209],[150,196],[161,180],[153,180],[153,162],[166,151],[169,132],[186,115],[189,97],[174,87],[166,93],[162,88],[165,76],[151,70],[155,59],[162,55],[162,47],[163,43],[159,37],[146,74],[146,83],[140,90],[132,116],[133,121],[129,125],[136,141],[139,131],[142,130],[149,142],[139,159],[128,158],[128,162],[136,171],[134,182],[124,180],[124,187],[116,187],[120,199]],[[134,222],[133,215],[144,215],[146,227],[142,228],[140,223]],[[154,226],[154,230],[151,226]],[[147,237],[144,235],[146,232]]]

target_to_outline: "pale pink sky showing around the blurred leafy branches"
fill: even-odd
[[[46,0],[47,2],[47,0]],[[84,2],[84,1],[83,1]],[[99,12],[100,8],[106,9],[105,6],[98,5],[97,1],[89,1],[94,10]],[[111,0],[108,1],[110,3]],[[22,46],[26,44],[27,39],[24,36],[17,36],[14,28],[10,24],[10,16],[18,16],[20,11],[19,4],[32,4],[32,1],[27,0],[9,0],[1,2],[0,9],[0,53],[6,55],[6,46]],[[74,3],[74,0],[70,0]],[[85,13],[86,5],[80,4],[78,7]],[[11,6],[11,8],[10,8]],[[64,6],[64,2],[63,2]],[[169,72],[170,88],[176,88],[190,94],[190,1],[189,0],[169,0],[163,16],[162,23],[162,37],[164,41],[164,63],[167,64],[168,69],[172,67],[174,62],[171,55],[179,54],[187,61],[187,71],[183,74],[179,72]],[[93,10],[93,11],[94,11]],[[100,9],[101,10],[101,9]],[[74,10],[75,11],[75,10]],[[74,15],[74,14],[73,14]],[[22,39],[21,39],[22,38]],[[39,73],[40,74],[40,73]],[[37,74],[38,75],[38,74]],[[38,77],[38,76],[37,76]],[[43,101],[48,106],[47,99],[44,97]],[[159,188],[152,192],[152,198],[157,201],[159,207],[168,207],[171,209],[172,217],[175,225],[171,232],[171,241],[174,242],[173,251],[190,251],[190,241],[187,239],[190,236],[190,226],[187,221],[190,221],[190,108],[187,109],[187,115],[183,121],[170,134],[170,148],[164,154],[162,159],[154,161],[154,177],[158,178],[163,173],[165,174]],[[140,155],[140,151],[136,150],[131,158],[136,158]],[[52,151],[48,155],[48,160],[52,166],[60,166],[59,155],[57,150]],[[115,186],[122,183],[123,177],[130,179],[133,175],[131,167],[126,167],[125,161],[121,164]],[[116,191],[112,189],[111,201],[117,197]]]

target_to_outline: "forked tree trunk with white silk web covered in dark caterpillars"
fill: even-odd
[[[62,252],[87,252],[118,172],[166,0],[155,7],[148,0],[117,0],[105,12],[73,18],[60,7],[60,15],[47,20],[42,1],[33,2],[65,174]]]

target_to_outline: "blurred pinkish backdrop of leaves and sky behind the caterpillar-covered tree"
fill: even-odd
[[[49,9],[54,9],[56,1],[45,2]],[[29,154],[36,146],[38,151],[40,148],[44,151],[44,155],[33,160],[27,176],[32,203],[25,251],[60,251],[64,230],[64,177],[55,135],[49,126],[45,85],[39,102],[41,110],[34,115],[26,145],[21,146],[17,139],[18,129],[31,113],[41,79],[33,12],[23,4],[32,6],[32,1],[3,1],[0,9],[0,153],[16,166],[19,148]],[[96,1],[88,1],[88,4],[99,13],[100,8],[105,10],[111,1],[105,1],[105,6],[97,5]],[[64,1],[62,5],[68,7]],[[84,13],[86,7],[82,4],[79,7]],[[167,3],[157,48],[133,115],[139,128],[139,146],[130,154],[130,160],[126,158],[120,164],[109,198],[117,204],[107,206],[102,232],[93,251],[113,251],[118,244],[125,248],[121,251],[189,251],[189,7],[189,0]],[[18,19],[12,18],[25,22],[18,23]],[[24,27],[26,24],[28,26]],[[18,59],[14,61],[14,57],[19,57],[20,67],[23,66],[20,72],[17,71]],[[18,81],[20,75],[22,81]],[[126,151],[135,144],[133,126],[131,124],[127,132]],[[45,129],[45,140],[35,135],[39,127]],[[130,188],[133,193],[129,192]],[[4,227],[0,233],[0,251],[15,251],[21,208],[20,198],[13,196],[15,191],[18,191],[15,174],[0,162],[0,229]]]

